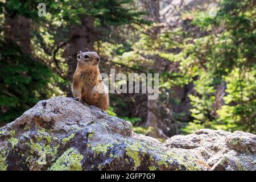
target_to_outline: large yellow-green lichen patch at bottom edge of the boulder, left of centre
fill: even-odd
[[[83,156],[74,148],[69,148],[61,155],[49,170],[51,171],[81,171]]]

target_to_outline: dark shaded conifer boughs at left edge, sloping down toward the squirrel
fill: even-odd
[[[39,100],[63,94],[57,83],[64,81],[13,42],[0,40],[0,67],[0,121],[13,121]]]

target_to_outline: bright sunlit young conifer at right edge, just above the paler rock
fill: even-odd
[[[227,105],[217,111],[220,117],[214,121],[214,128],[256,133],[256,71],[241,73],[237,68],[225,81]]]

